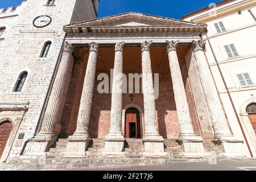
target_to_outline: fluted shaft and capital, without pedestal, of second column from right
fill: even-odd
[[[167,41],[167,52],[171,70],[172,85],[174,88],[177,117],[179,119],[180,135],[195,135],[191,122],[191,117],[189,115],[187,96],[185,93],[185,87],[183,84],[179,60],[176,52],[177,43],[178,41]]]

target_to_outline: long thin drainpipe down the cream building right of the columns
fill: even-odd
[[[208,42],[209,42],[210,49],[212,50],[212,54],[213,54],[214,60],[215,60],[216,65],[217,65],[217,67],[218,67],[218,71],[220,72],[222,81],[224,82],[224,85],[225,85],[226,91],[227,91],[227,93],[228,93],[229,100],[230,100],[230,102],[231,102],[231,104],[232,104],[234,113],[236,114],[237,121],[238,121],[238,123],[239,123],[239,126],[240,126],[241,131],[242,131],[242,134],[243,134],[243,138],[245,138],[245,142],[246,142],[246,145],[247,145],[247,147],[248,147],[248,149],[249,149],[251,158],[253,158],[253,153],[251,152],[251,148],[250,148],[249,143],[248,143],[248,140],[247,140],[247,138],[246,138],[245,131],[243,130],[243,127],[242,127],[240,118],[238,117],[238,113],[237,113],[236,107],[234,106],[234,102],[233,102],[233,100],[232,100],[232,97],[231,97],[231,94],[230,94],[230,92],[229,92],[228,86],[226,85],[225,78],[224,78],[224,76],[223,76],[223,74],[222,74],[222,72],[221,72],[221,68],[220,68],[220,65],[218,64],[217,57],[216,57],[216,55],[215,55],[215,53],[214,53],[214,51],[213,51],[212,44],[210,44],[210,40],[209,40],[209,38],[208,38],[207,31],[205,32],[205,35],[207,36],[207,40],[208,40]]]

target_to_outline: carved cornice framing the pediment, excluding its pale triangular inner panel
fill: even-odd
[[[115,22],[126,19],[137,19],[159,25],[142,24],[137,26],[112,26]],[[161,16],[139,13],[126,13],[94,20],[87,20],[64,26],[64,32],[68,34],[98,34],[98,33],[131,33],[131,32],[203,32],[207,24],[191,23],[184,20],[164,18]]]

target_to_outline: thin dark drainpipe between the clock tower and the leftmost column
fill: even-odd
[[[46,102],[47,102],[48,97],[49,97],[49,92],[50,92],[50,90],[51,90],[51,88],[52,88],[52,84],[53,84],[54,77],[55,77],[55,75],[56,75],[55,73],[56,73],[56,70],[57,70],[57,65],[59,65],[59,61],[60,61],[60,57],[61,57],[61,52],[62,52],[62,50],[63,50],[64,42],[65,42],[66,37],[67,37],[67,34],[65,34],[65,36],[64,36],[63,43],[62,43],[62,46],[61,46],[61,49],[60,49],[60,52],[59,52],[59,56],[58,56],[58,59],[57,59],[57,63],[56,63],[56,65],[55,65],[55,68],[54,68],[54,71],[53,71],[53,74],[52,74],[52,77],[51,77],[51,82],[50,82],[50,84],[49,84],[49,88],[48,88],[47,93],[46,93],[46,98],[45,98],[45,100],[44,100],[44,104],[43,104],[43,107],[42,107],[42,110],[41,110],[41,113],[40,113],[40,116],[39,116],[39,119],[38,119],[38,123],[36,124],[35,132],[34,132],[32,138],[34,138],[34,137],[36,136],[36,134],[38,133],[39,126],[40,126],[40,124],[42,123],[42,122],[40,122],[40,121],[42,121],[42,116],[43,116],[43,113],[44,113],[44,109],[45,109],[45,107],[46,107]],[[25,148],[26,148],[26,146],[27,146],[27,143],[28,143],[32,138],[27,139],[27,140],[24,142],[24,145],[23,145],[23,147],[22,147],[22,150],[20,151],[20,155],[23,155],[24,150],[25,150]]]

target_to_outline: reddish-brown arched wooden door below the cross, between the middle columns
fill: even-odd
[[[130,107],[125,111],[125,138],[141,138],[139,110]]]

